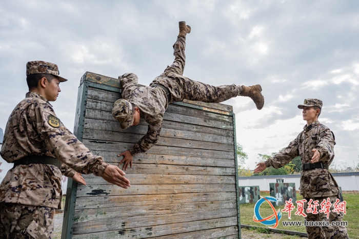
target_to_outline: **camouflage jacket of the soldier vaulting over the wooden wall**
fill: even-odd
[[[119,77],[122,97],[137,105],[140,115],[149,124],[143,136],[130,149],[132,155],[146,152],[157,143],[163,125],[163,115],[168,107],[166,92],[159,87],[138,86],[137,75],[127,73]]]

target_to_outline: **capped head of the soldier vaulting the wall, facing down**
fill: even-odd
[[[139,124],[139,108],[127,101],[127,99],[117,99],[112,108],[113,117],[120,123],[122,129]]]

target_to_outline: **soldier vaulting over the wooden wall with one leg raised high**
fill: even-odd
[[[149,129],[130,150],[118,156],[124,156],[119,163],[124,163],[123,169],[128,165],[132,167],[133,155],[146,152],[158,141],[161,133],[163,116],[171,102],[202,101],[207,103],[220,103],[238,95],[250,97],[257,109],[262,109],[264,98],[260,85],[241,86],[224,85],[211,86],[201,82],[192,81],[183,76],[185,68],[186,35],[191,28],[185,22],[179,22],[177,41],[173,45],[174,62],[168,66],[164,73],[157,76],[150,86],[138,87],[138,78],[133,73],[119,76],[123,92],[122,98],[115,102],[112,110],[113,116],[120,122],[123,129],[138,125],[140,118],[149,124]]]

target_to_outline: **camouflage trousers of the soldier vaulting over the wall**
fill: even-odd
[[[175,57],[173,63],[166,68],[164,73],[156,77],[152,84],[166,86],[171,92],[171,102],[189,99],[190,101],[220,103],[240,95],[242,86],[234,84],[211,86],[183,76],[186,64],[185,41],[185,37],[177,37],[177,41],[173,45]]]

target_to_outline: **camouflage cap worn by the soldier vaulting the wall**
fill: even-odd
[[[133,124],[132,104],[127,99],[117,99],[112,108],[113,117],[119,121],[122,129]]]

